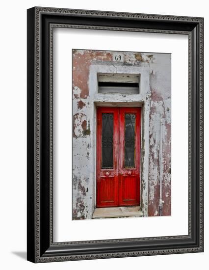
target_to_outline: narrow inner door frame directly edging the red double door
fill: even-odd
[[[141,127],[140,127],[140,157],[139,157],[139,177],[140,177],[140,182],[139,182],[139,206],[142,210],[143,207],[143,199],[142,199],[142,135],[143,135],[143,104],[141,102],[95,102],[95,208],[97,208],[97,108],[98,107],[122,107],[122,108],[130,108],[130,107],[136,107],[136,108],[141,108]],[[117,206],[121,207],[121,206]],[[123,206],[123,207],[130,207],[130,206]],[[108,208],[108,207],[105,207]],[[110,207],[109,207],[110,208]]]

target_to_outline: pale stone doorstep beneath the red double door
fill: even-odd
[[[139,206],[95,208],[92,218],[143,216]]]

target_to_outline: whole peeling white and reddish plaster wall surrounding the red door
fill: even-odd
[[[170,54],[123,53],[124,62],[113,61],[113,52],[73,51],[73,219],[91,218],[95,207],[95,110],[106,102],[142,102],[148,112],[142,141],[143,208],[145,215],[159,215],[159,178],[162,180],[162,215],[170,215]],[[95,72],[142,73],[140,95],[106,95],[97,93]],[[149,91],[143,92],[144,89]],[[143,120],[142,120],[143,121]],[[160,160],[160,123],[163,129]],[[143,136],[142,136],[143,138]],[[147,157],[147,163],[144,162]],[[160,162],[161,161],[161,162]],[[161,166],[161,167],[160,167]],[[161,170],[160,170],[161,168]],[[147,199],[146,199],[147,198]]]

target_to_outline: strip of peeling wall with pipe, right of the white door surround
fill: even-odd
[[[170,54],[154,54],[150,61],[150,157],[148,215],[159,215],[159,177],[162,166],[162,215],[171,214],[171,63]],[[162,161],[160,162],[160,121]]]

